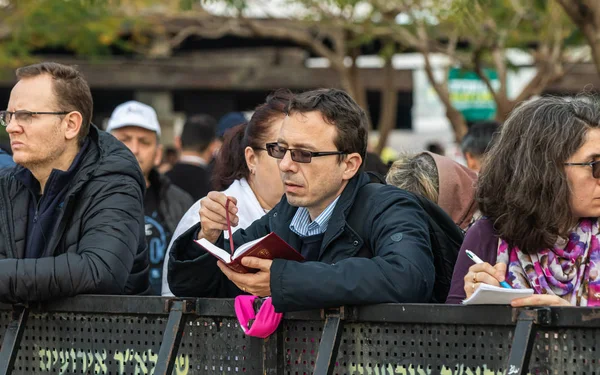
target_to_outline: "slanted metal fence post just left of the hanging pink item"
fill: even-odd
[[[169,320],[163,333],[162,343],[158,352],[155,375],[171,375],[177,359],[177,351],[183,337],[185,328],[185,314],[194,310],[194,303],[190,300],[168,300]]]

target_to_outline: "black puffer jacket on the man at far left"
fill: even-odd
[[[23,259],[30,195],[0,175],[0,302],[77,294],[145,294],[144,177],[131,152],[90,128],[90,145],[48,239],[51,257]]]

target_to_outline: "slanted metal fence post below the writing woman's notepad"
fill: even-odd
[[[551,323],[551,311],[547,307],[517,311],[517,326],[513,338],[506,375],[526,375],[535,341],[537,325]]]

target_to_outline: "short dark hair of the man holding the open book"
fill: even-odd
[[[312,111],[321,112],[327,123],[335,125],[337,135],[333,143],[339,151],[357,152],[364,162],[367,153],[367,115],[350,95],[338,89],[306,91],[294,96],[287,109],[288,114]],[[341,162],[344,157],[340,155],[338,160]]]

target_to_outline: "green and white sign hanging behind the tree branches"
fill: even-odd
[[[494,90],[500,82],[494,70],[486,69],[485,75],[490,79]],[[450,69],[448,76],[450,101],[467,121],[493,119],[496,115],[496,102],[492,93],[477,74],[469,70]]]

